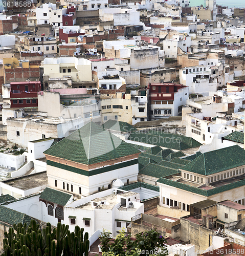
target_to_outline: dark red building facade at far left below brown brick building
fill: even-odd
[[[37,108],[37,92],[41,91],[41,82],[11,82],[11,108]]]

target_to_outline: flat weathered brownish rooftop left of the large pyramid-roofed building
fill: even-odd
[[[47,172],[42,172],[3,181],[3,183],[22,190],[28,190],[48,184],[48,176]]]

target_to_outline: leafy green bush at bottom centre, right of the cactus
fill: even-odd
[[[169,254],[166,248],[164,236],[155,230],[144,231],[136,234],[135,240],[131,240],[129,234],[125,235],[122,230],[115,241],[112,241],[112,233],[103,230],[100,236],[102,256],[139,256],[139,255],[157,255],[163,256]]]

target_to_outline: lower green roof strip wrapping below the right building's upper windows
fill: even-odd
[[[205,197],[213,196],[213,195],[222,193],[224,191],[245,185],[245,179],[244,179],[244,180],[239,180],[239,181],[227,184],[227,185],[223,185],[223,186],[219,186],[219,187],[215,187],[215,188],[206,190],[206,189],[202,189],[202,188],[198,188],[198,187],[193,187],[193,186],[181,183],[181,182],[169,180],[166,178],[160,178],[158,180],[158,182],[172,186],[172,187],[177,187],[177,188],[180,188],[180,189],[183,189],[183,190],[186,190],[191,193],[198,194],[198,195],[202,195]]]

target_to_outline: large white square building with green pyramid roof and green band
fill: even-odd
[[[44,154],[49,186],[76,195],[110,188],[118,178],[127,184],[137,181],[140,152],[92,121]]]

